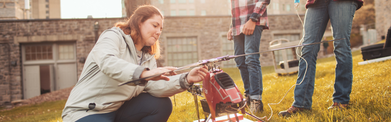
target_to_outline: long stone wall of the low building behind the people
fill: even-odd
[[[304,16],[301,16],[304,19]],[[167,37],[197,36],[199,60],[222,56],[221,40],[229,29],[231,16],[167,17],[160,37],[163,57],[160,66],[166,66],[164,43]],[[83,70],[88,53],[104,30],[113,27],[124,18],[111,19],[48,19],[48,20],[0,20],[0,104],[23,99],[22,59],[23,44],[68,41],[76,42],[78,78]],[[98,22],[98,35],[94,23]],[[264,30],[260,51],[266,51],[274,34],[302,33],[302,24],[297,15],[269,16],[270,30]],[[261,65],[273,64],[272,53],[261,54]],[[11,62],[17,62],[11,65]]]

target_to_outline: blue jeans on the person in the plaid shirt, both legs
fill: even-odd
[[[256,53],[260,51],[262,26],[256,25],[252,35],[240,33],[234,36],[235,56]],[[262,71],[260,54],[247,55],[235,58],[244,84],[244,93],[250,95],[250,99],[262,100]]]

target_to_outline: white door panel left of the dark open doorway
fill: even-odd
[[[24,99],[41,95],[40,66],[24,66]]]

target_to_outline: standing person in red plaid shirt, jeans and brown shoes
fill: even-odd
[[[270,0],[231,0],[232,23],[227,33],[234,40],[235,55],[259,52],[261,34],[269,29],[266,6]],[[260,54],[235,58],[250,111],[263,111]]]

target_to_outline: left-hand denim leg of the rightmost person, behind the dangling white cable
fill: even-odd
[[[308,7],[304,19],[304,41],[303,44],[319,42],[325,33],[329,20],[326,0],[318,0]],[[327,0],[329,1],[329,0]],[[299,73],[294,91],[292,106],[312,109],[312,95],[314,93],[316,60],[320,44],[307,45],[302,48],[302,57],[299,60]],[[304,76],[305,74],[305,76]],[[303,80],[304,79],[304,80]]]

